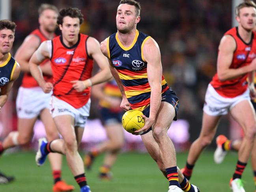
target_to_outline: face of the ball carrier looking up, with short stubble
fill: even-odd
[[[135,6],[121,4],[118,6],[116,14],[116,27],[123,34],[129,33],[136,28],[136,24],[140,21],[140,17],[136,16]]]

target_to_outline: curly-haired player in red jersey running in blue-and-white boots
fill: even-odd
[[[80,34],[83,15],[77,8],[60,10],[58,26],[62,35],[44,41],[30,59],[30,71],[45,93],[52,96],[52,117],[63,139],[47,143],[39,140],[36,162],[44,163],[49,152],[66,155],[67,162],[82,192],[90,192],[84,164],[77,149],[82,139],[90,110],[90,87],[111,78],[107,58],[101,53],[99,42]],[[39,64],[51,60],[53,83],[46,82]],[[101,71],[92,75],[93,60]]]

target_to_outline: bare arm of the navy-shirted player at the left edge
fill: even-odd
[[[17,63],[14,72],[13,72],[13,77],[11,79],[11,81],[4,87],[1,88],[1,95],[0,95],[0,109],[4,106],[4,104],[6,103],[7,99],[8,99],[8,95],[11,91],[11,88],[13,87],[13,83],[15,82],[15,80],[17,80],[17,78],[19,77],[21,72],[21,67],[19,65],[19,63]]]

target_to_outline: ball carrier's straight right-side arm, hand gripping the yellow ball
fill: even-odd
[[[148,82],[151,88],[150,95],[150,113],[149,117],[143,116],[145,119],[145,125],[142,129],[135,132],[144,132],[148,130],[155,122],[157,112],[161,104],[161,91],[162,91],[162,64],[161,53],[159,47],[154,39],[149,38],[146,41],[144,48],[144,59],[148,63],[147,73]]]

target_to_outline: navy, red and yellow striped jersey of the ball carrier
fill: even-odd
[[[148,82],[147,62],[144,60],[143,47],[150,36],[138,32],[133,43],[124,47],[117,33],[107,39],[108,58],[118,71],[123,84],[125,95],[132,109],[144,110],[150,104],[151,88]],[[162,75],[162,93],[168,89]]]

